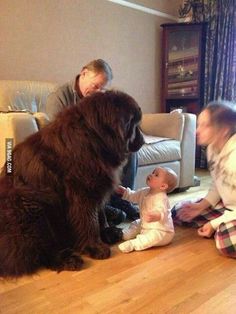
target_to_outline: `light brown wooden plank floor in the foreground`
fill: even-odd
[[[201,177],[200,187],[171,195],[172,204],[203,196],[209,177]],[[0,313],[236,313],[236,261],[196,230],[177,227],[166,247],[123,254],[114,246],[110,259],[85,261],[79,272],[0,281]]]

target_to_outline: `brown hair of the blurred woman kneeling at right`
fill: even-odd
[[[229,101],[212,101],[203,110],[210,114],[211,123],[218,128],[228,127],[230,135],[236,133],[236,107]]]

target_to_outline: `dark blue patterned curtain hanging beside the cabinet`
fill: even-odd
[[[212,100],[236,102],[236,0],[205,0],[207,24],[204,106]],[[201,168],[206,168],[201,150]]]

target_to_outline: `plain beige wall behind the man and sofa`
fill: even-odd
[[[128,1],[126,1],[128,2]],[[161,27],[182,1],[129,1],[154,14],[108,0],[0,0],[0,79],[63,83],[103,58],[113,85],[143,112],[160,108]],[[156,14],[157,13],[157,14]]]

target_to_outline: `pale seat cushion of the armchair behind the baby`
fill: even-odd
[[[150,165],[181,159],[180,142],[166,139],[157,143],[144,144],[138,151],[138,164]]]

